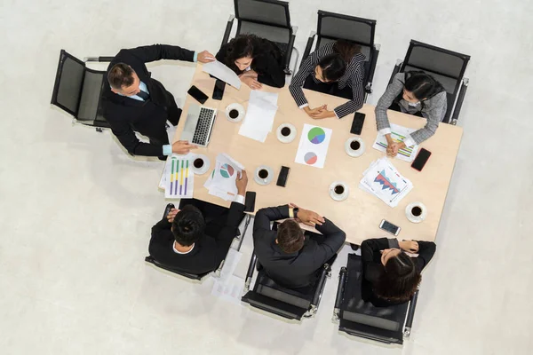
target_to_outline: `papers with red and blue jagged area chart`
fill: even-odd
[[[370,168],[362,175],[359,187],[377,196],[390,207],[398,206],[402,198],[413,188],[410,180],[402,177],[386,158],[372,162]]]

